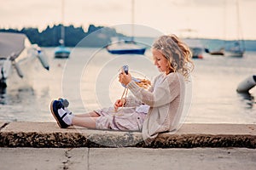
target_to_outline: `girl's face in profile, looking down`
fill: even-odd
[[[170,67],[166,57],[163,54],[161,54],[159,50],[154,48],[152,49],[152,54],[154,59],[154,65],[157,66],[158,70],[160,72],[166,72],[166,74],[169,73]]]

